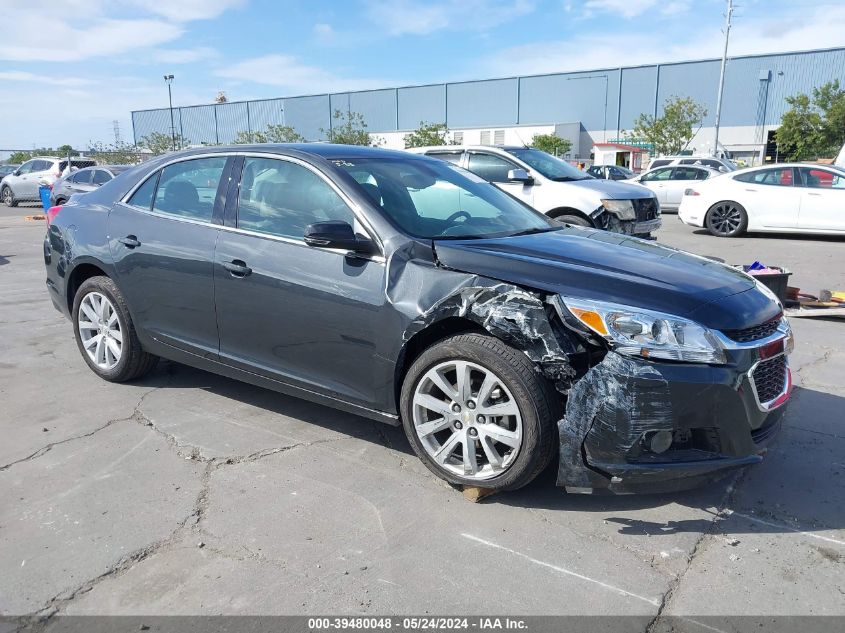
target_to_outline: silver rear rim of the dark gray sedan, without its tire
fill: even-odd
[[[77,319],[88,358],[100,369],[113,369],[123,354],[123,332],[112,302],[102,293],[89,292],[79,304]]]

